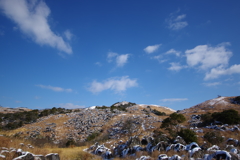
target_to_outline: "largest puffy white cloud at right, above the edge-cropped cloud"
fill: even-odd
[[[198,67],[207,70],[217,66],[227,66],[232,52],[226,49],[230,43],[222,43],[216,47],[198,45],[193,49],[186,50],[187,64],[190,67]]]

